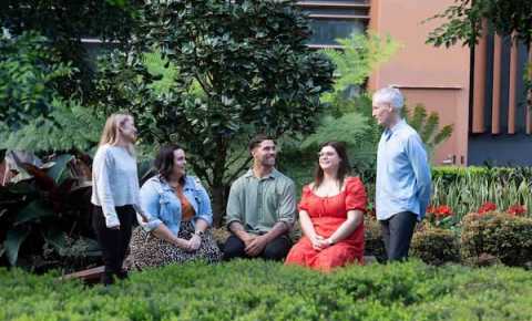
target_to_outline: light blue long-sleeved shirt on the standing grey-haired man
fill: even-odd
[[[424,217],[430,200],[430,168],[423,143],[405,121],[382,133],[377,153],[377,219],[401,211]]]

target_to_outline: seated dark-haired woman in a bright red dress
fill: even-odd
[[[344,144],[321,145],[315,182],[303,188],[299,221],[303,238],[285,265],[330,271],[354,261],[364,263],[366,190],[358,177],[347,176]]]

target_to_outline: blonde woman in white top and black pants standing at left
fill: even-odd
[[[111,115],[103,128],[92,164],[92,225],[103,253],[104,284],[126,278],[122,269],[131,239],[135,211],[147,221],[140,206],[134,143],[136,128],[127,114]]]

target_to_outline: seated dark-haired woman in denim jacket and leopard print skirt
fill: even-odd
[[[213,222],[211,200],[200,180],[185,174],[185,152],[178,145],[158,152],[158,175],[141,188],[141,207],[150,220],[139,219],[141,226],[133,231],[127,268],[221,260],[222,253],[208,230]]]

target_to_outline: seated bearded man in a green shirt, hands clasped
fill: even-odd
[[[253,167],[233,183],[227,201],[232,235],[224,259],[282,260],[291,247],[288,232],[296,217],[294,182],[275,169],[275,142],[258,135],[249,142]]]

